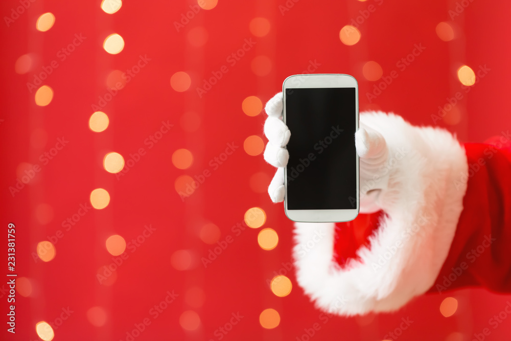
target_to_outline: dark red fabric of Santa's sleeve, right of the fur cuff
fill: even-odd
[[[428,292],[482,286],[511,292],[511,145],[466,144],[469,176],[449,255]],[[456,184],[455,184],[456,185]]]

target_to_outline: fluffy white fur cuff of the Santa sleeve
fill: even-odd
[[[454,238],[467,184],[467,156],[446,130],[414,127],[383,112],[361,113],[389,148],[388,188],[378,200],[385,215],[345,268],[334,260],[334,223],[295,223],[298,284],[318,308],[338,315],[393,311],[426,292]]]

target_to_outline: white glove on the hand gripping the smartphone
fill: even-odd
[[[268,144],[264,151],[264,159],[277,167],[268,187],[268,194],[273,202],[284,200],[284,167],[289,160],[289,152],[285,147],[291,132],[282,121],[282,100],[282,93],[278,93],[265,107],[268,118],[264,124],[264,134],[268,138]],[[360,115],[360,128],[354,138],[357,154],[360,156],[360,212],[373,213],[384,207],[382,200],[388,187],[392,166],[386,165],[389,150],[385,139],[366,121],[368,120]]]

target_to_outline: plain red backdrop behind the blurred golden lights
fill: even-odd
[[[257,172],[266,173],[269,182],[274,169],[262,155],[250,156],[243,150],[249,135],[263,137],[265,114],[249,117],[241,107],[248,96],[266,102],[280,91],[287,76],[302,73],[312,60],[320,63],[316,73],[346,73],[358,79],[361,110],[393,111],[413,124],[431,125],[431,115],[438,112],[438,106],[460,90],[458,67],[466,64],[477,71],[479,65],[486,65],[491,71],[457,105],[459,123],[437,122],[456,132],[461,141],[481,142],[511,125],[507,109],[511,26],[506,15],[511,3],[466,1],[468,7],[451,20],[449,10],[455,9],[455,1],[384,0],[378,5],[372,0],[289,0],[294,5],[282,15],[279,6],[285,6],[284,0],[219,0],[214,9],[200,10],[179,32],[174,21],[179,21],[196,2],[127,0],[111,15],[101,10],[100,3],[37,0],[9,27],[0,25],[2,226],[7,229],[9,222],[16,224],[16,271],[32,284],[29,297],[16,295],[16,334],[8,334],[3,323],[3,339],[39,339],[35,324],[55,321],[66,307],[74,312],[55,330],[55,340],[126,339],[126,332],[135,323],[151,317],[149,310],[165,299],[168,290],[179,296],[157,319],[151,317],[151,325],[136,339],[217,340],[220,338],[215,330],[237,312],[244,317],[223,337],[226,340],[306,340],[304,328],[316,322],[321,329],[315,332],[315,340],[381,340],[398,328],[403,318],[413,323],[401,339],[472,340],[474,333],[483,328],[490,328],[491,335],[485,338],[490,340],[501,340],[511,333],[511,318],[496,329],[489,324],[511,297],[478,289],[430,294],[396,313],[333,317],[326,324],[297,286],[292,270],[285,270],[293,282],[291,294],[276,297],[266,281],[274,271],[283,269],[283,263],[291,261],[293,225],[285,217],[282,204],[273,204],[266,193],[256,193],[249,185],[250,177]],[[376,11],[363,18],[361,40],[345,46],[339,40],[339,30],[370,4],[376,6]],[[0,14],[10,16],[17,6],[19,1],[3,1]],[[55,15],[55,25],[39,32],[35,22],[45,12]],[[251,34],[249,22],[254,17],[270,21],[268,35]],[[438,38],[435,27],[440,21],[452,24],[455,39],[445,42]],[[208,32],[208,40],[200,48],[193,47],[187,38],[197,26]],[[84,42],[65,61],[59,61],[59,67],[43,83],[53,88],[53,101],[48,106],[37,106],[27,82],[57,59],[56,53],[80,33],[86,37]],[[103,40],[111,33],[124,38],[120,54],[110,55],[102,48]],[[227,56],[240,49],[244,39],[255,41],[254,47],[230,66]],[[365,94],[378,82],[364,79],[363,64],[374,60],[388,76],[398,70],[396,62],[419,43],[426,48],[424,52],[406,70],[398,71],[399,77],[369,103]],[[35,56],[35,64],[27,74],[16,74],[17,58],[27,53]],[[102,109],[110,119],[109,127],[101,133],[92,132],[88,119],[96,110],[91,104],[98,103],[98,97],[106,93],[107,75],[112,70],[131,68],[140,55],[151,60]],[[251,70],[252,59],[260,55],[269,57],[272,63],[266,76],[256,76]],[[199,98],[196,88],[222,65],[229,65],[228,72]],[[190,89],[183,93],[170,84],[171,76],[178,71],[187,72],[192,80]],[[187,112],[200,118],[193,132],[183,128],[186,124],[182,116]],[[153,148],[146,148],[144,140],[167,120],[173,128]],[[42,138],[35,139],[34,131],[39,135],[44,131]],[[9,187],[20,177],[19,165],[40,164],[39,155],[62,137],[69,143],[13,197]],[[227,143],[240,147],[183,202],[174,189],[176,177],[211,170],[208,163],[225,150]],[[120,180],[103,169],[107,152],[119,152],[128,160],[129,154],[141,147],[147,154]],[[179,148],[194,155],[194,163],[187,170],[172,164],[172,153]],[[65,232],[55,244],[55,259],[35,261],[37,243],[62,229],[61,222],[77,213],[95,188],[110,193],[108,207],[90,210]],[[44,224],[35,213],[41,203],[53,211],[51,220]],[[272,251],[259,247],[258,230],[247,229],[239,236],[231,231],[251,207],[262,208],[267,215],[265,227],[278,233],[279,244]],[[200,258],[207,257],[214,245],[202,242],[198,232],[210,222],[219,226],[220,240],[231,235],[234,241],[204,268]],[[128,242],[143,232],[145,224],[156,229],[153,235],[115,271],[117,280],[113,284],[99,284],[98,269],[112,262],[106,238],[119,234]],[[171,256],[179,249],[189,250],[194,257],[189,270],[179,271],[171,265]],[[2,250],[6,255],[7,247]],[[204,291],[203,305],[192,307],[185,300],[185,293],[192,287]],[[0,295],[4,321],[7,293],[2,291]],[[439,305],[448,295],[458,300],[458,309],[446,318],[440,314]],[[88,309],[94,306],[106,312],[106,323],[101,327],[87,319]],[[274,308],[281,316],[280,325],[271,330],[259,323],[259,314],[266,308]],[[195,331],[180,326],[179,317],[187,310],[200,316],[200,327]]]

